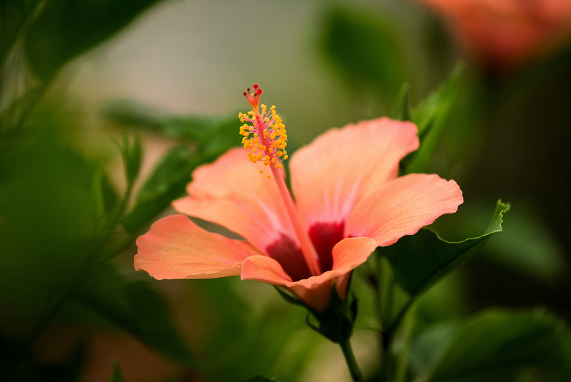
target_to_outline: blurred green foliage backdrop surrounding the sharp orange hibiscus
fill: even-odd
[[[403,323],[408,377],[570,375],[569,44],[509,68],[475,60],[413,0],[4,0],[0,32],[0,380],[348,378],[267,285],[133,271],[135,238],[239,144],[252,81],[294,149],[360,119],[416,121],[423,148],[403,169],[465,196],[435,223],[443,238],[479,235],[511,202],[504,232]],[[354,277],[353,342],[375,378],[372,260]]]

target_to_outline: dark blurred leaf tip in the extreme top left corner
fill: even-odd
[[[16,44],[19,36],[24,34],[26,25],[34,15],[41,1],[39,0],[4,0],[0,4],[0,67]]]

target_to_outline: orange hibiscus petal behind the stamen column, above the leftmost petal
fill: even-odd
[[[260,174],[246,149],[232,149],[213,164],[198,167],[186,191],[173,202],[180,213],[218,223],[246,238],[261,251],[281,233],[296,240],[276,182]]]

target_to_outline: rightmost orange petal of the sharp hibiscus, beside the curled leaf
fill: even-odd
[[[368,236],[379,246],[390,246],[438,216],[455,212],[463,201],[455,181],[428,174],[401,176],[361,201],[345,231],[349,236]]]

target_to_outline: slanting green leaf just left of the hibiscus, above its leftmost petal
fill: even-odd
[[[123,218],[126,230],[136,233],[168,207],[171,201],[181,196],[198,161],[193,159],[186,146],[168,151],[143,184],[133,209]]]

